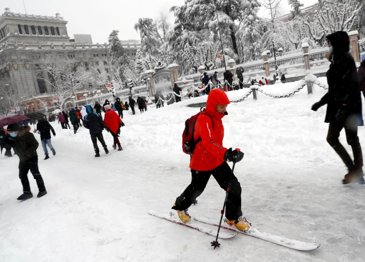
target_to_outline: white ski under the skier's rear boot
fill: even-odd
[[[213,235],[213,236],[217,235],[217,230],[214,230],[212,228],[204,226],[203,223],[195,221],[194,219],[191,219],[188,223],[184,223],[180,220],[180,218],[176,217],[174,213],[163,214],[163,213],[159,213],[159,212],[156,212],[156,211],[148,211],[148,213],[150,215],[154,215],[154,216],[166,219],[168,221],[171,221],[171,222],[174,222],[174,223],[177,223],[177,224],[181,224],[181,225],[196,229],[198,231],[201,231],[201,232]],[[228,239],[228,238],[232,238],[236,235],[237,235],[237,233],[220,232],[219,233],[219,238]]]

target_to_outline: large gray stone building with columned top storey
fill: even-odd
[[[76,59],[85,67],[99,65],[109,72],[105,45],[70,42],[66,24],[67,21],[59,13],[56,16],[42,16],[14,13],[6,8],[0,15],[0,78],[10,77],[17,83],[19,93],[29,95],[30,99],[54,95],[50,84],[39,79],[35,71],[39,59],[51,52]],[[43,77],[49,79],[47,72]],[[99,86],[90,88],[89,85],[80,88],[91,91],[103,89]],[[45,93],[47,95],[40,95]],[[30,107],[37,108],[38,102],[39,98],[35,99],[31,104],[36,106]]]

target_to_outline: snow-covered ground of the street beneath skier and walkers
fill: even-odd
[[[296,85],[263,88],[281,93]],[[232,91],[230,99],[247,91]],[[124,150],[113,150],[112,136],[104,132],[110,154],[100,158],[84,127],[74,135],[52,123],[57,155],[43,160],[38,148],[48,190],[39,199],[16,200],[22,193],[19,159],[0,157],[0,261],[363,261],[364,187],[341,185],[346,169],[326,142],[326,107],[310,110],[325,92],[315,86],[308,96],[305,87],[282,99],[258,93],[256,101],[251,95],[230,104],[223,119],[225,146],[245,152],[235,169],[244,215],[263,231],[319,242],[319,249],[301,252],[241,234],[213,249],[214,237],[148,215],[171,211],[191,180],[181,133],[199,109],[183,101],[143,114],[124,111]],[[359,137],[365,144],[363,127]],[[341,142],[346,144],[343,133]],[[189,211],[219,219],[224,197],[212,177]]]

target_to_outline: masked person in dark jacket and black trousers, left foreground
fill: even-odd
[[[14,140],[9,140],[12,146],[17,148],[19,156],[19,178],[23,185],[23,194],[18,197],[18,200],[26,200],[33,197],[31,186],[28,180],[28,172],[31,170],[34,179],[36,179],[39,193],[37,197],[44,196],[47,191],[38,168],[38,142],[34,135],[30,132],[30,126],[19,126],[18,124],[10,124],[7,128],[11,137]]]

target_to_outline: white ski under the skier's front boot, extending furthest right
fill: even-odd
[[[219,221],[216,221],[214,219],[208,218],[206,216],[194,216],[194,218],[197,221],[206,223],[206,224],[212,224],[215,226],[219,225]],[[317,243],[307,243],[307,242],[302,242],[302,241],[298,241],[298,240],[294,240],[294,239],[289,239],[286,237],[282,237],[282,236],[278,236],[278,235],[272,235],[269,233],[265,233],[265,232],[261,232],[259,229],[255,228],[255,227],[251,227],[247,232],[245,231],[241,231],[239,229],[237,229],[234,225],[229,225],[226,222],[226,219],[224,222],[222,222],[221,224],[222,228],[226,228],[235,232],[239,232],[242,234],[246,234],[246,235],[250,235],[256,238],[260,238],[272,243],[276,243],[282,246],[286,246],[292,249],[296,249],[296,250],[301,250],[301,251],[309,251],[309,250],[314,250],[317,249],[320,244]],[[221,233],[220,233],[221,234]]]

